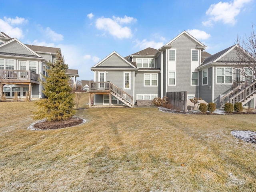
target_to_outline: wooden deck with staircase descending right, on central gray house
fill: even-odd
[[[110,94],[126,106],[134,108],[133,97],[111,82],[90,82],[89,93]],[[111,98],[111,97],[110,97]],[[111,100],[111,99],[110,99]]]

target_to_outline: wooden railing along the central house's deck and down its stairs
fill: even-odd
[[[129,94],[127,94],[124,90],[119,88],[118,86],[114,85],[113,83],[107,82],[90,82],[90,90],[111,90],[116,95],[120,96],[127,102],[133,105],[133,98]]]

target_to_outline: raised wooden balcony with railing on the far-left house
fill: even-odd
[[[35,83],[40,84],[39,74],[34,71],[0,69],[0,83]]]

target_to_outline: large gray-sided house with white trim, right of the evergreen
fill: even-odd
[[[91,68],[94,82],[90,82],[89,92],[94,95],[94,105],[133,107],[136,100],[186,91],[187,99],[202,98],[217,107],[225,102],[242,102],[255,108],[255,84],[239,68],[227,64],[236,63],[236,49],[240,47],[234,45],[214,55],[205,48],[184,31],[158,50],[146,48],[127,57],[110,53]],[[245,91],[248,84],[250,92]]]

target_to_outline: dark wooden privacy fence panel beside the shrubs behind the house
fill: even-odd
[[[188,93],[186,91],[167,92],[166,96],[168,97],[168,99],[170,99],[170,104],[172,108],[183,111],[184,113],[188,112],[188,109],[187,109]]]

